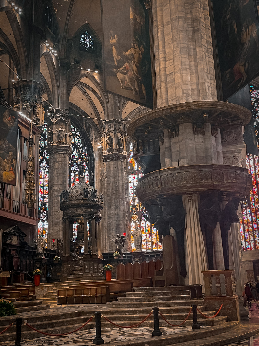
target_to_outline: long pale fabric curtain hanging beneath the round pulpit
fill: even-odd
[[[191,198],[184,195],[183,207],[186,210],[185,231],[189,264],[189,284],[203,285],[202,291],[204,292],[204,281],[201,271],[208,269],[199,220],[199,199],[199,194],[193,194]]]

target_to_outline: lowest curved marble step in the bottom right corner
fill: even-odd
[[[226,334],[214,335],[200,340],[191,342],[183,342],[179,344],[170,344],[166,346],[224,346],[228,344],[238,343],[240,340],[248,339],[259,333],[258,324],[243,325],[230,330]]]

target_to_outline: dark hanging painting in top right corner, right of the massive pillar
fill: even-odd
[[[223,99],[259,74],[258,11],[255,0],[213,0]]]

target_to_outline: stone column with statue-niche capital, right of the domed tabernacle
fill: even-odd
[[[120,120],[119,98],[109,94],[108,114],[103,125],[104,215],[107,233],[103,235],[104,252],[113,252],[117,234],[126,232],[125,169],[126,140],[123,121]]]

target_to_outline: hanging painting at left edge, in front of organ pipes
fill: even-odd
[[[16,185],[18,112],[0,106],[0,182]]]

